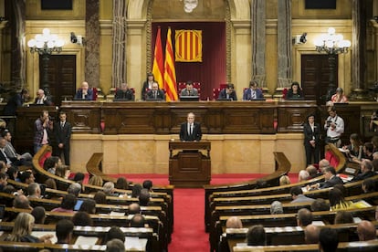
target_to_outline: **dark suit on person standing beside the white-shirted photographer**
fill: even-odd
[[[320,143],[320,125],[314,122],[314,131],[312,131],[310,123],[306,122],[303,124],[303,134],[304,134],[304,146],[306,152],[306,165],[311,164],[311,158],[314,157],[313,163],[319,163],[319,143]],[[311,140],[315,140],[315,147],[310,144]]]

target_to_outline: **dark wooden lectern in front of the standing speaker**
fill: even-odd
[[[210,142],[169,142],[169,182],[176,187],[210,184]],[[206,155],[200,150],[206,150]],[[173,155],[173,151],[177,152]]]

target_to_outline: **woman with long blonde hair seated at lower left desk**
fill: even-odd
[[[28,213],[19,213],[15,220],[15,226],[13,226],[12,233],[5,237],[5,241],[11,242],[30,242],[30,243],[50,243],[52,235],[46,235],[41,237],[32,236],[34,226],[34,217]]]

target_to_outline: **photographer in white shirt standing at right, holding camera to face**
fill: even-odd
[[[324,130],[327,131],[326,143],[341,146],[341,134],[344,132],[344,121],[337,115],[334,107],[328,109],[329,117],[325,121]]]

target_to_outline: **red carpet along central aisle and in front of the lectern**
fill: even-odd
[[[265,174],[213,174],[211,184],[227,184],[247,181],[264,176]],[[142,183],[146,179],[153,184],[169,184],[165,174],[114,174],[123,176],[133,183]],[[88,174],[87,176],[88,177]],[[290,173],[291,183],[298,181],[298,173]],[[210,250],[208,234],[205,233],[205,190],[176,188],[174,194],[174,231],[169,252],[195,251],[208,252]]]

